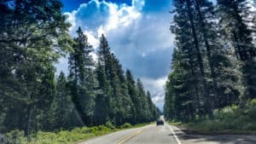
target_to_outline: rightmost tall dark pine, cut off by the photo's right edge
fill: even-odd
[[[252,32],[247,28],[242,16],[247,15],[246,0],[218,0],[220,25],[225,37],[235,49],[236,57],[241,61],[243,84],[246,99],[256,97],[256,49],[253,45]]]

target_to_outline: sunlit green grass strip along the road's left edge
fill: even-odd
[[[36,134],[30,135],[29,141],[24,137],[23,131],[13,130],[3,139],[3,144],[76,144],[96,136],[107,135],[119,130],[143,127],[147,124],[131,125],[125,123],[119,127],[114,127],[113,124],[105,124],[94,127],[75,128],[73,130],[59,130],[56,132],[38,131]]]

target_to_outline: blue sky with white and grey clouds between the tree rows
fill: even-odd
[[[72,24],[73,37],[81,26],[97,49],[104,34],[123,69],[131,69],[152,94],[157,107],[164,105],[165,84],[171,71],[173,35],[169,30],[171,0],[61,0],[63,14]],[[96,55],[93,55],[96,59]],[[68,73],[67,58],[56,65]]]

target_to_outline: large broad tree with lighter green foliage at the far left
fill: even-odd
[[[15,1],[12,8],[8,3],[0,7],[3,123],[10,123],[4,124],[8,130],[18,128],[29,135],[40,127],[38,118],[53,100],[53,63],[70,49],[69,24],[61,14],[60,1]]]

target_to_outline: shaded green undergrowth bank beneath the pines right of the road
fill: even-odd
[[[199,134],[256,135],[256,99],[246,106],[233,105],[213,112],[214,118],[195,118],[192,122],[171,121],[185,132]]]

